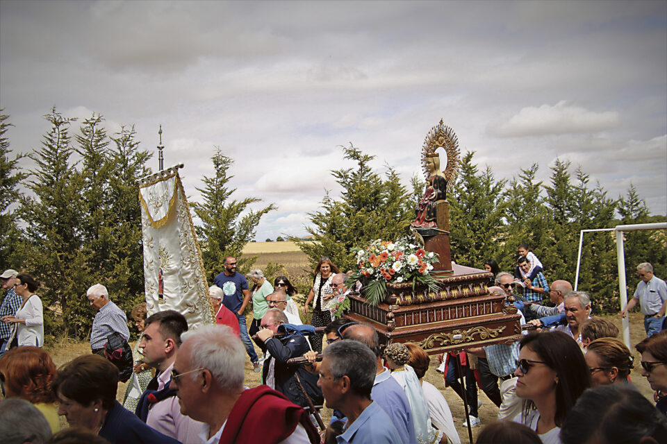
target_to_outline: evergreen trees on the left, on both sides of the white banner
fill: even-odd
[[[41,282],[45,332],[87,339],[94,309],[85,291],[104,284],[129,313],[144,300],[141,210],[136,180],[151,174],[152,154],[139,148],[133,126],[108,135],[104,117],[74,126],[52,108],[41,146],[13,155],[12,124],[0,108],[0,268],[30,273]],[[32,160],[34,167],[26,162]],[[273,205],[247,211],[258,198],[233,200],[228,170],[233,160],[218,149],[215,174],[204,177],[203,199],[193,204],[209,282],[226,255],[240,257],[261,216]],[[240,216],[243,213],[245,216]],[[256,257],[239,261],[247,271]],[[0,295],[4,296],[4,295]]]

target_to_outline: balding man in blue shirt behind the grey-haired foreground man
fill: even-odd
[[[377,331],[370,325],[354,324],[343,331],[343,339],[361,342],[374,353],[375,381],[370,397],[391,418],[391,423],[401,437],[400,442],[415,443],[415,423],[410,402],[400,384],[391,377],[389,369],[382,366],[382,352]]]

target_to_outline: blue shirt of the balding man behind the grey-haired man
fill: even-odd
[[[387,368],[384,369],[384,372],[375,376],[370,398],[374,401],[373,404],[378,404],[389,416],[390,422],[388,424],[394,425],[401,438],[397,442],[415,443],[415,422],[412,417],[410,402],[403,388],[396,382],[396,379],[391,377],[391,372]],[[357,421],[359,418],[357,418]],[[375,442],[368,441],[368,443]]]

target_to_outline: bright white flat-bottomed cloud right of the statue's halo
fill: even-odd
[[[508,121],[488,129],[497,137],[544,136],[569,133],[595,133],[620,124],[618,112],[593,112],[559,101],[556,105],[527,106]]]

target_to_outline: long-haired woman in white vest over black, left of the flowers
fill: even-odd
[[[334,290],[331,287],[331,279],[334,274],[340,273],[338,267],[331,263],[329,257],[320,257],[318,265],[315,266],[315,279],[313,288],[308,293],[306,304],[304,305],[304,314],[308,314],[308,305],[313,302],[313,317],[311,325],[313,327],[326,327],[331,322],[331,312],[327,302],[334,297]],[[322,333],[311,336],[311,345],[313,350],[322,351]]]

